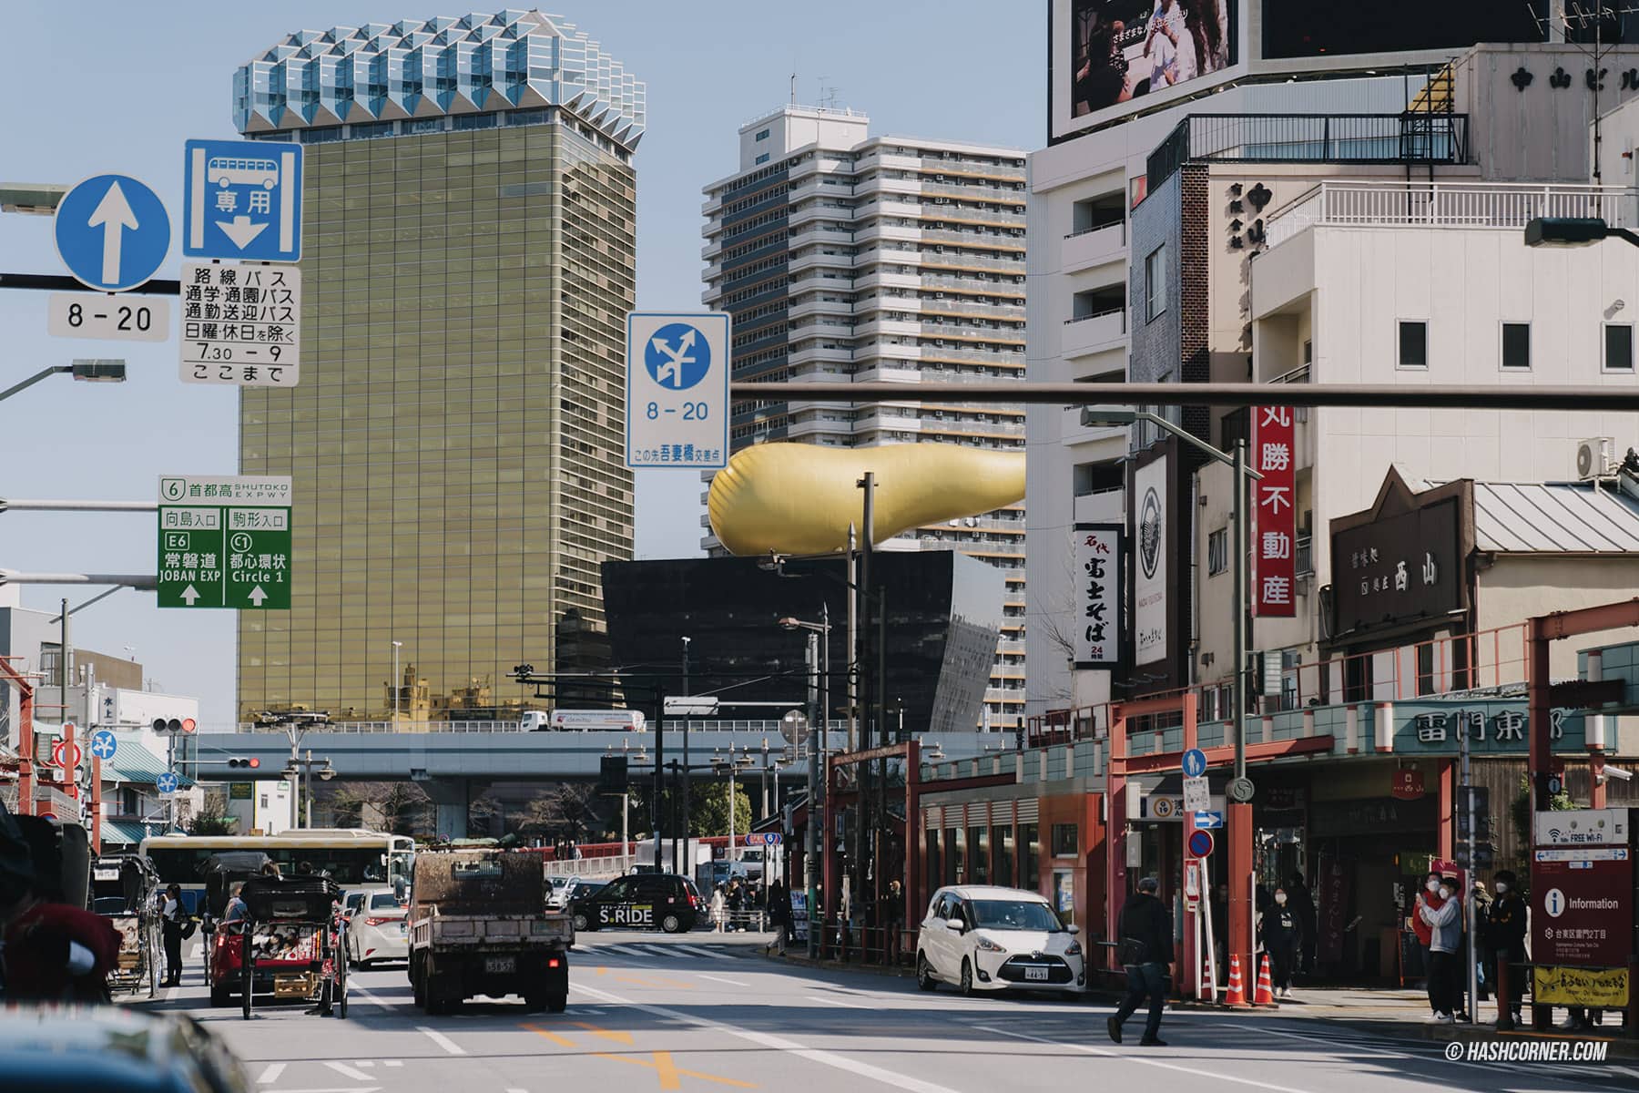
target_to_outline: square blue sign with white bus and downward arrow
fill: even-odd
[[[302,257],[302,146],[188,141],[182,254],[295,262]]]

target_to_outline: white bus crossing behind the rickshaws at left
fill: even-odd
[[[410,883],[415,839],[364,828],[310,828],[274,836],[149,836],[138,852],[161,885],[182,885],[184,903],[193,908],[205,893],[200,865],[221,850],[261,850],[285,877],[311,870],[329,873],[343,888],[370,891]]]

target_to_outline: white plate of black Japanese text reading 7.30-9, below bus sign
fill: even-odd
[[[182,379],[295,387],[302,270],[295,265],[182,267]]]

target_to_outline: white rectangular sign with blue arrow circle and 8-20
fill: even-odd
[[[626,465],[715,470],[728,464],[729,316],[626,316]]]

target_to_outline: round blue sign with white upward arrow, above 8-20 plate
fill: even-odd
[[[95,175],[57,205],[57,254],[87,288],[125,292],[154,275],[170,251],[170,216],[128,175]]]

